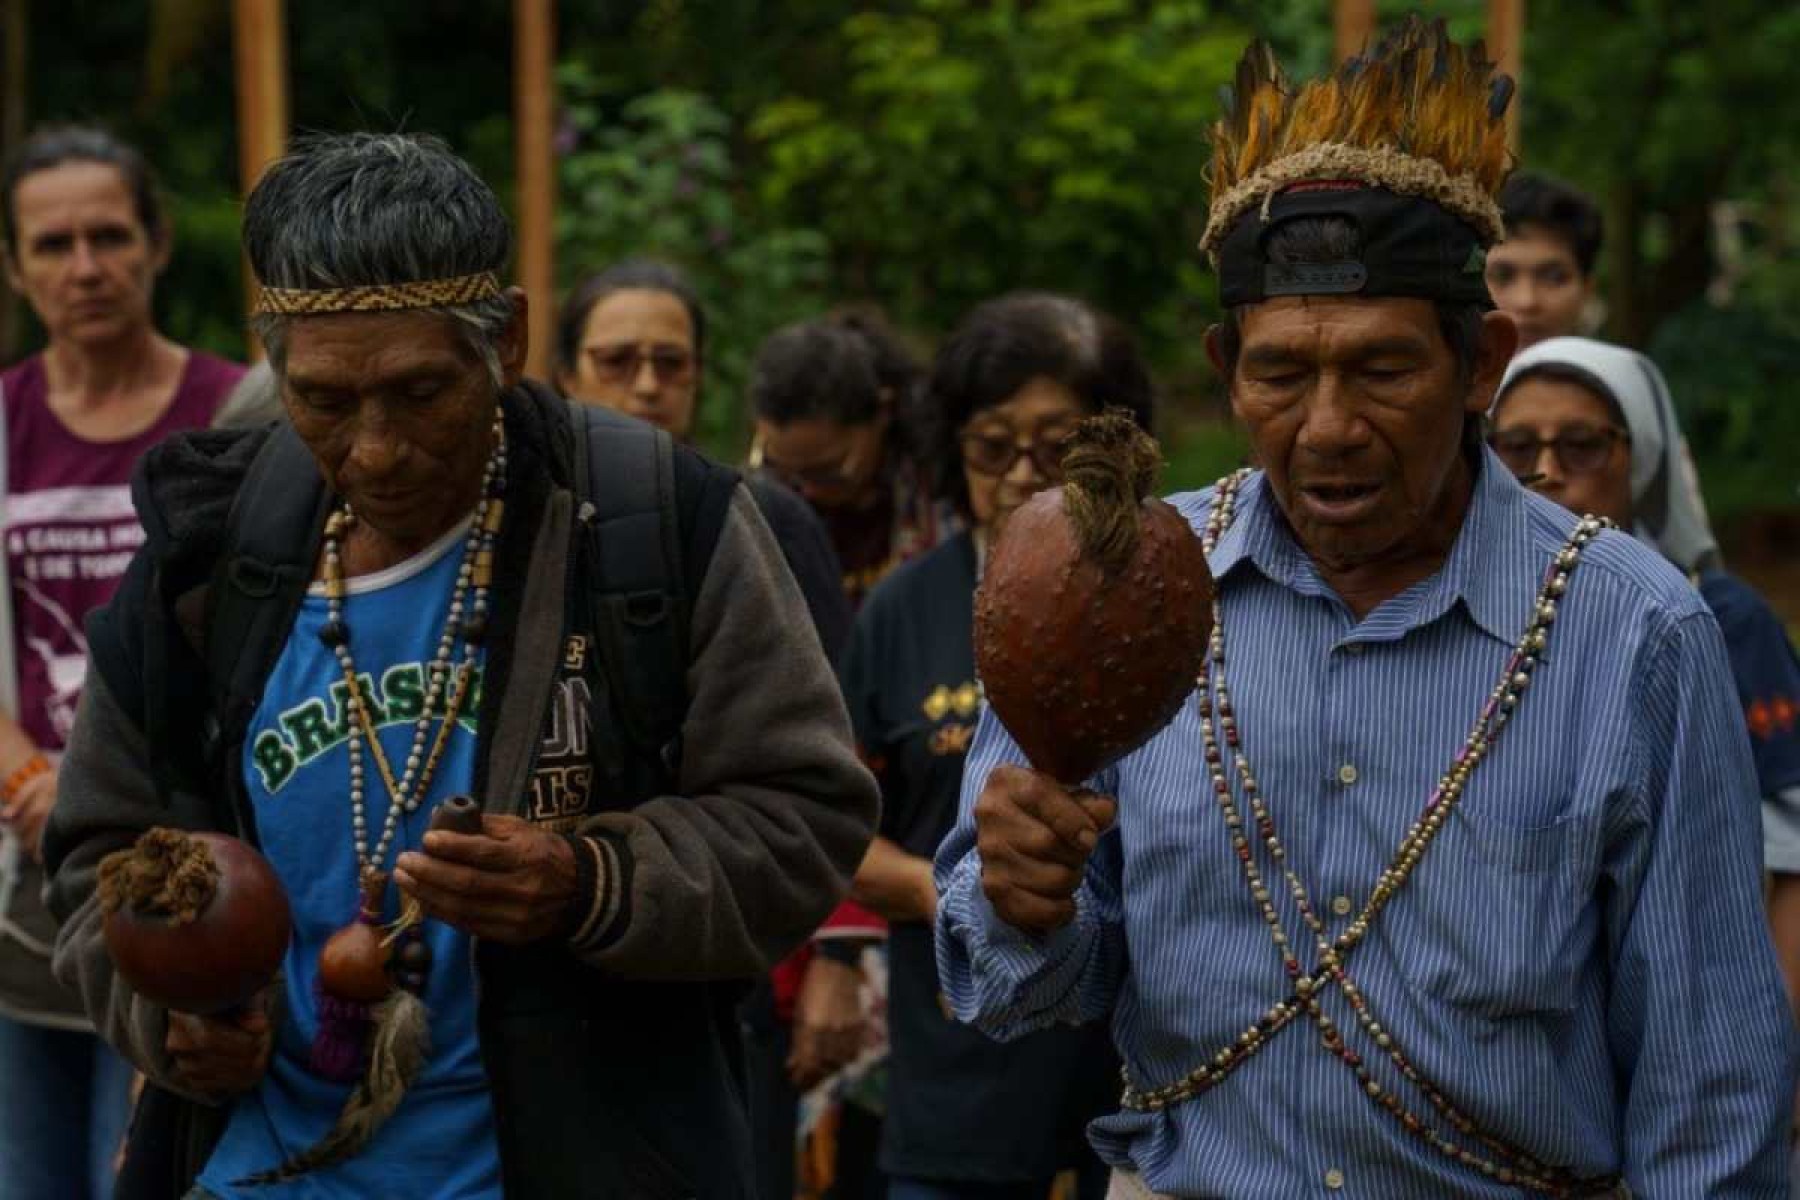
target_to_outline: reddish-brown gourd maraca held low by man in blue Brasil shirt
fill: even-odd
[[[266,988],[292,914],[274,867],[223,833],[149,829],[101,860],[101,932],[131,990],[180,1013],[230,1011]]]

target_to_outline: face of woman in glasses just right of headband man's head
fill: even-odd
[[[587,315],[574,374],[563,378],[563,389],[574,399],[617,408],[686,439],[700,390],[688,306],[646,288],[601,297]]]

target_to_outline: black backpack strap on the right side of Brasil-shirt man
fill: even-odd
[[[626,739],[662,770],[680,763],[688,622],[675,443],[605,408],[571,405],[580,525],[592,563],[592,630]]]

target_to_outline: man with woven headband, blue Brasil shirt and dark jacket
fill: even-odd
[[[749,1196],[736,981],[877,804],[781,552],[733,471],[520,380],[506,218],[441,142],[302,142],[245,245],[288,423],[151,453],[49,835],[58,973],[151,1081],[128,1177]],[[454,795],[475,828],[428,831]],[[268,856],[261,1002],[113,973],[95,864],[151,826]],[[376,923],[346,986],[328,943]]]

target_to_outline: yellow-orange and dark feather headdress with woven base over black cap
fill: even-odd
[[[1408,16],[1373,50],[1294,92],[1251,43],[1213,126],[1213,205],[1201,250],[1217,257],[1237,219],[1307,180],[1355,180],[1424,196],[1505,237],[1494,194],[1512,169],[1512,79],[1485,47],[1451,41],[1442,20]]]

